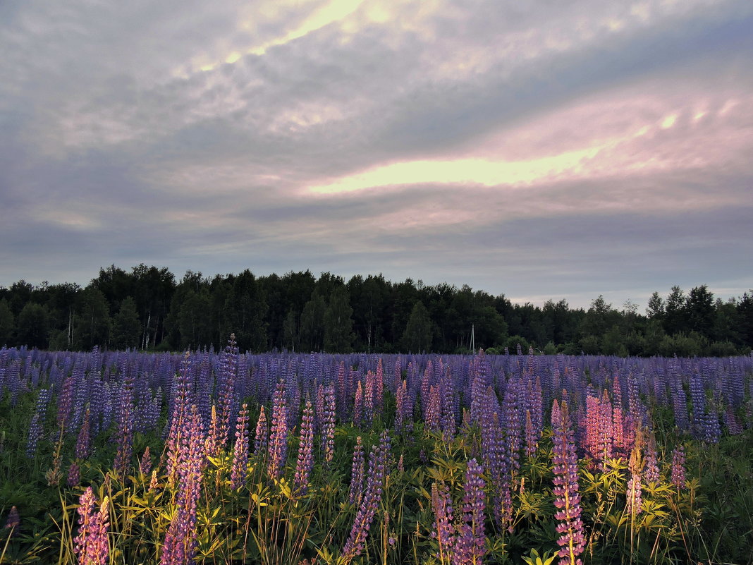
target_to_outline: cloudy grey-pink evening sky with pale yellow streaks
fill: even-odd
[[[753,288],[753,2],[5,0],[0,285]]]

